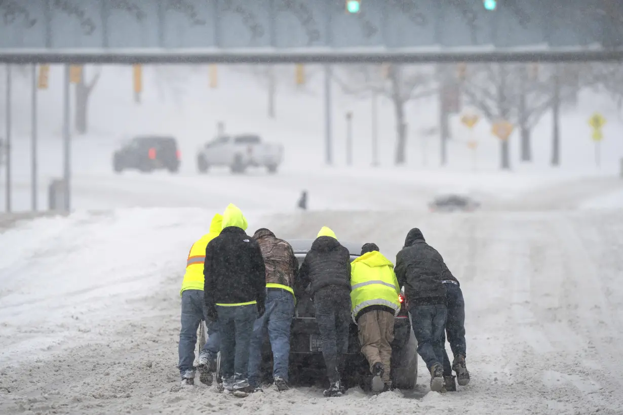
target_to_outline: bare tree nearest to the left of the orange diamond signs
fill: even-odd
[[[368,98],[370,93],[391,100],[396,114],[396,149],[394,164],[406,162],[407,123],[404,114],[409,101],[437,93],[434,68],[404,65],[348,66],[334,77],[341,89],[350,95]]]

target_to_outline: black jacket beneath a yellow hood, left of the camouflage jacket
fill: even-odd
[[[257,301],[264,307],[266,271],[257,242],[242,228],[228,226],[206,246],[206,307]]]

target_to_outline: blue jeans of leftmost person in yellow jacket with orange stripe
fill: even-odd
[[[201,320],[206,320],[203,291],[186,290],[182,292],[182,328],[179,331],[179,373],[194,370],[194,348],[197,344],[197,329]],[[206,320],[207,321],[207,320]],[[216,323],[207,325],[207,342],[202,352],[216,353],[219,351],[219,326]]]

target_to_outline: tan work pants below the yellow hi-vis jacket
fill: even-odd
[[[383,381],[389,383],[391,342],[394,341],[394,315],[383,310],[364,312],[357,320],[361,353],[366,357],[372,373],[374,363],[379,361],[385,368]]]

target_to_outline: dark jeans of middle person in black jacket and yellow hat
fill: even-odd
[[[350,291],[343,287],[328,286],[314,296],[316,323],[322,340],[326,376],[331,383],[340,380],[344,370],[344,355],[348,351],[350,329]]]

